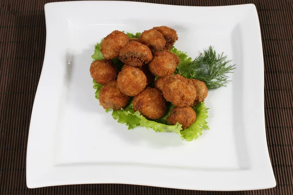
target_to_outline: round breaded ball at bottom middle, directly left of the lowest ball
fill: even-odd
[[[166,100],[157,89],[147,87],[142,93],[133,98],[133,109],[144,117],[158,119],[167,111]]]

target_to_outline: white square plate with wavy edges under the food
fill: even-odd
[[[194,190],[272,188],[264,125],[264,67],[253,4],[188,7],[85,1],[45,5],[46,50],[27,147],[26,181],[43,186],[125,183]],[[94,45],[113,30],[167,25],[193,59],[213,45],[233,59],[228,87],[210,90],[210,131],[192,142],[177,134],[127,130],[95,98]]]

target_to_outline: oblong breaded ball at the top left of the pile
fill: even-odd
[[[113,31],[101,43],[101,52],[105,59],[113,59],[119,55],[121,48],[128,43],[129,38],[121,31]]]

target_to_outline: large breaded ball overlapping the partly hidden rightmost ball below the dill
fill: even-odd
[[[190,106],[196,98],[196,89],[191,80],[181,75],[170,76],[164,84],[163,95],[174,106]]]

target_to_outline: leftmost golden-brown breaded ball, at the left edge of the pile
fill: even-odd
[[[118,70],[114,67],[111,60],[102,59],[93,61],[90,65],[89,72],[97,83],[105,85],[109,80],[116,79]]]

